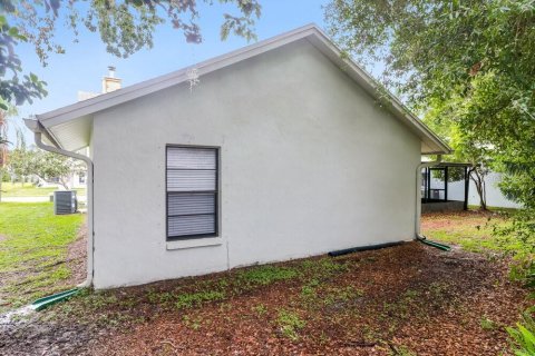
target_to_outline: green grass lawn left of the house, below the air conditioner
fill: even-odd
[[[84,216],[56,216],[51,202],[0,202],[0,312],[65,289]]]

